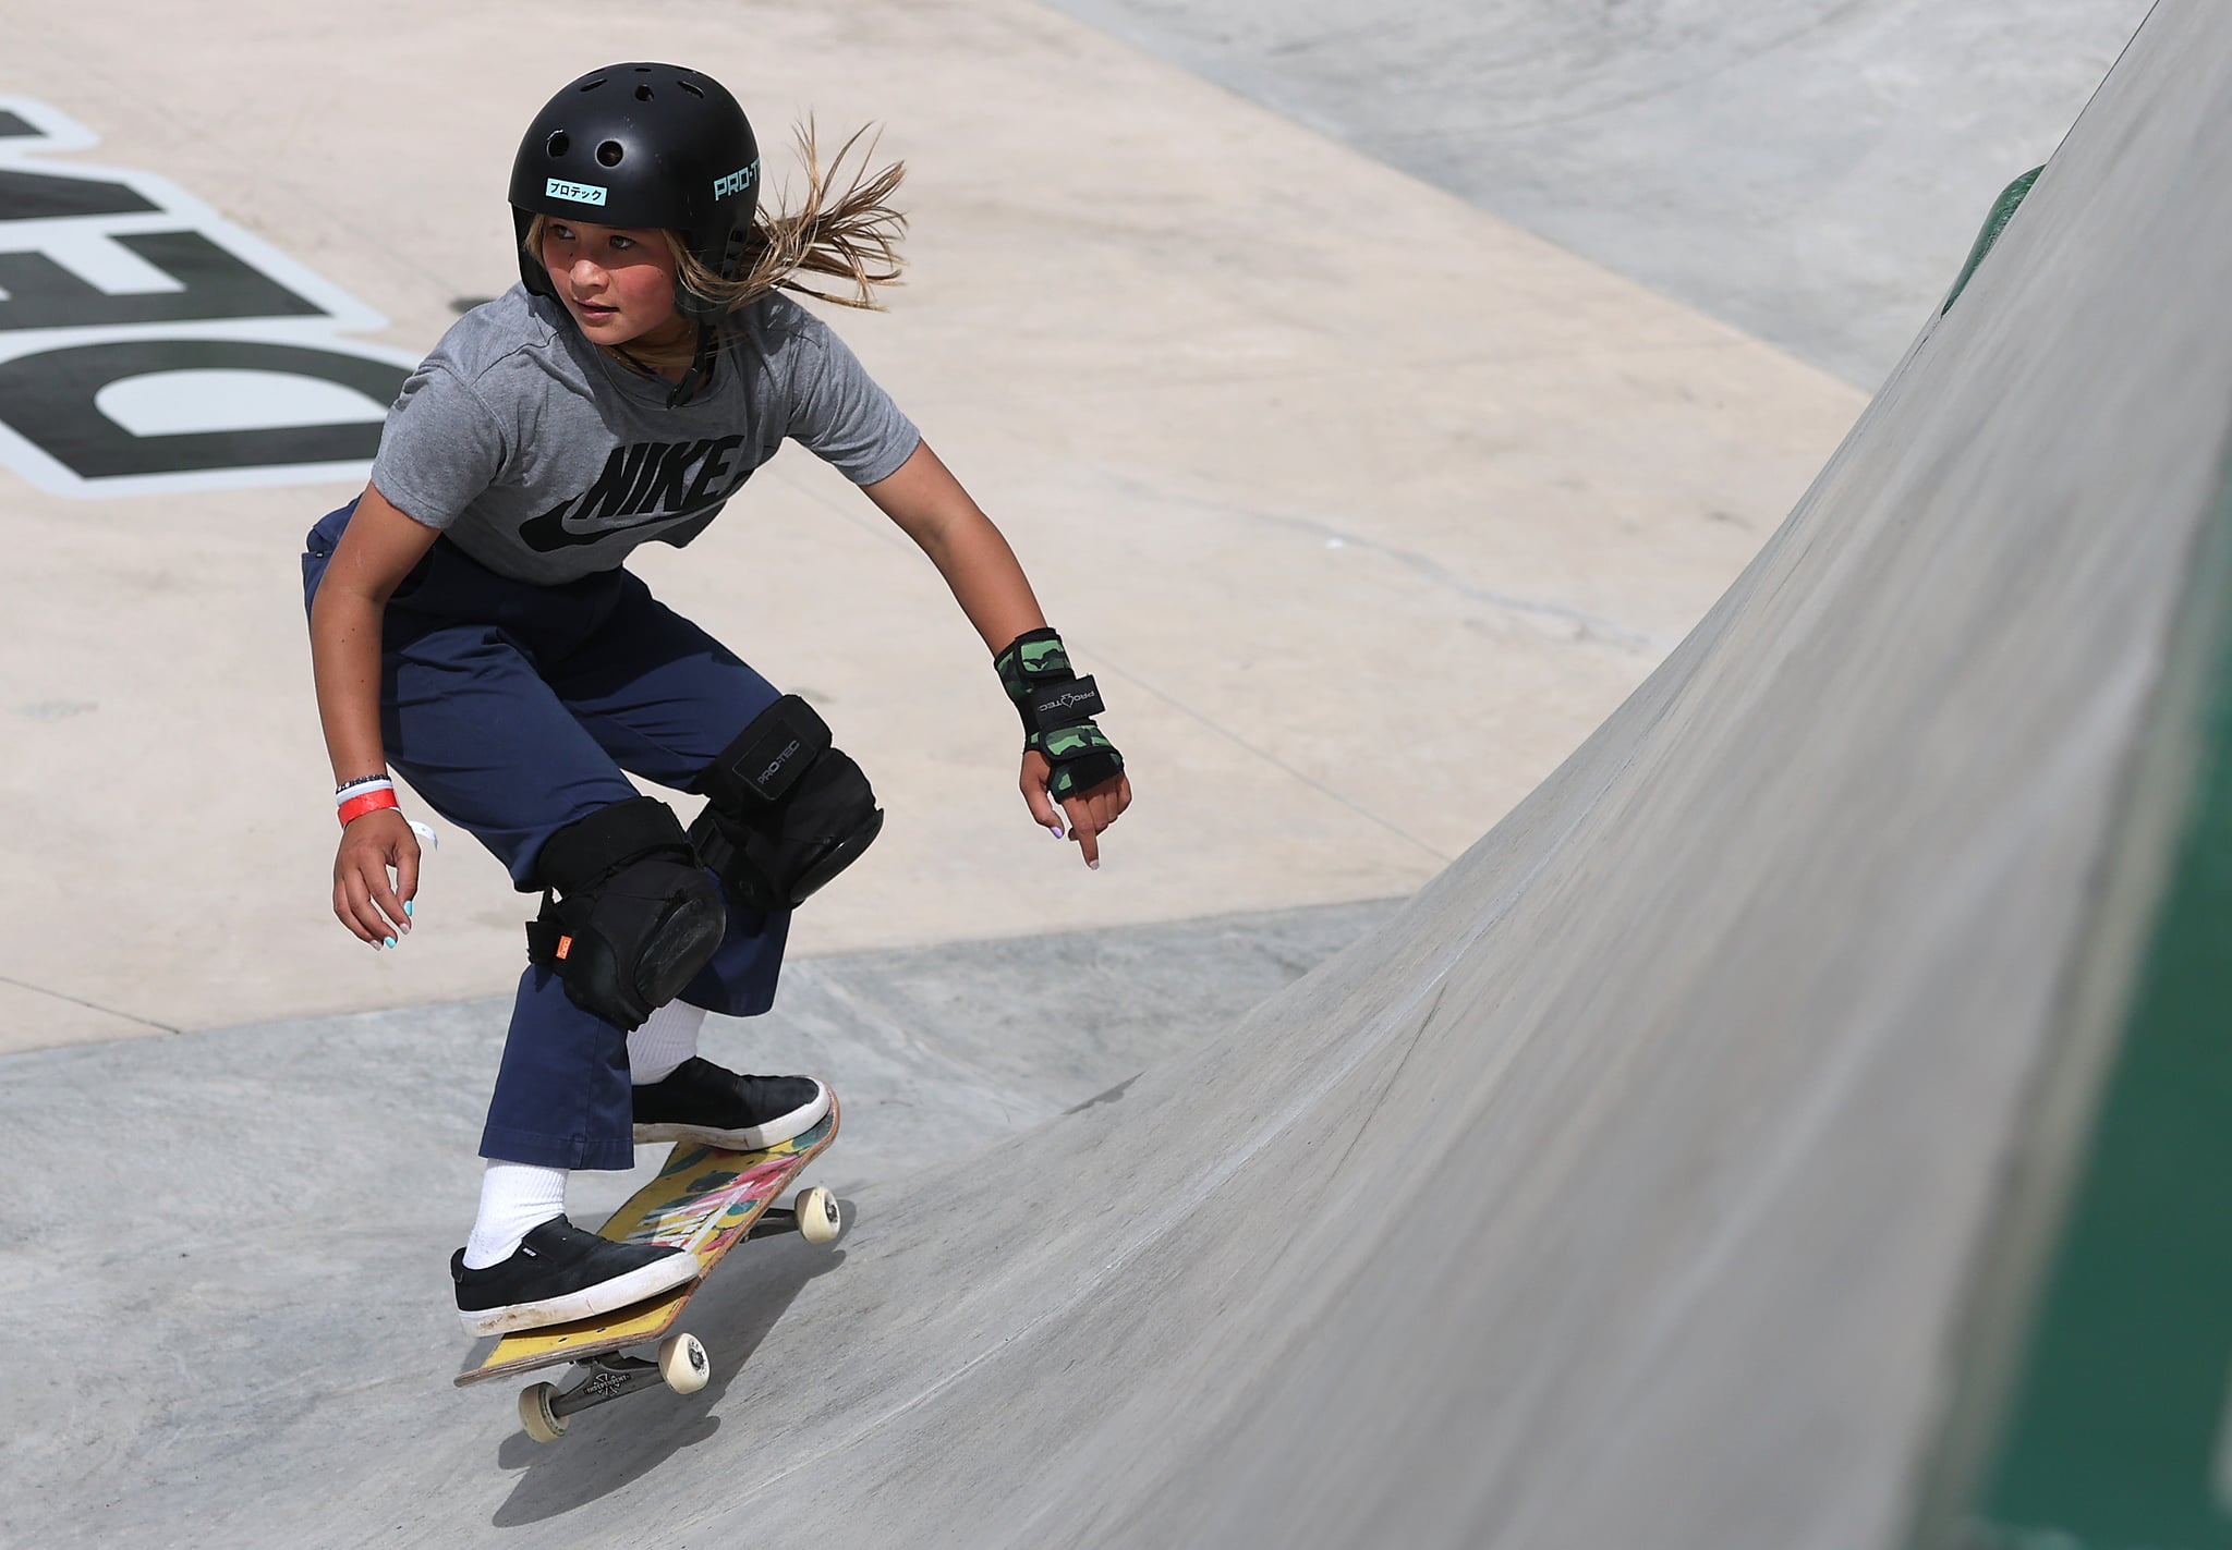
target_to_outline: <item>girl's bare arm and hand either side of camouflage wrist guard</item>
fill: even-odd
[[[978,508],[929,442],[920,444],[895,473],[868,484],[866,493],[946,578],[953,600],[962,604],[962,613],[984,638],[987,651],[998,656],[1022,636],[1051,633],[1047,616],[1031,593],[1031,582],[1024,578],[1022,564],[1016,562],[1016,551],[1007,546],[1000,529]],[[1027,749],[1018,781],[1022,801],[1031,807],[1031,818],[1054,834],[1062,834],[1056,798],[1049,796],[1051,781],[1051,761],[1038,749]],[[1116,823],[1129,805],[1132,781],[1123,769],[1098,785],[1060,796],[1060,807],[1069,814],[1069,836],[1078,841],[1085,865],[1100,865],[1100,832]]]

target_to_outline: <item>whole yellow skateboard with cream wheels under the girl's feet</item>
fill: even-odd
[[[560,1363],[585,1367],[585,1376],[571,1387],[533,1383],[520,1392],[520,1425],[538,1443],[556,1443],[567,1421],[591,1405],[607,1405],[661,1383],[676,1394],[705,1387],[712,1376],[705,1347],[694,1334],[674,1329],[674,1323],[721,1256],[745,1238],[799,1233],[817,1244],[837,1238],[844,1227],[837,1198],[819,1184],[801,1189],[788,1211],[775,1204],[790,1180],[833,1140],[837,1140],[835,1093],[828,1115],[815,1128],[761,1151],[676,1142],[658,1178],[629,1195],[596,1231],[614,1242],[670,1242],[690,1249],[699,1258],[696,1280],[594,1318],[507,1334],[478,1367],[458,1374],[458,1387]],[[625,1354],[627,1347],[652,1340],[658,1340],[656,1360]]]

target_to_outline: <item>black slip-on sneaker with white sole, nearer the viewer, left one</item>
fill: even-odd
[[[464,1269],[464,1249],[449,1256],[458,1282],[458,1318],[466,1334],[540,1329],[569,1318],[609,1314],[692,1280],[696,1256],[658,1242],[612,1242],[554,1215],[489,1269]]]

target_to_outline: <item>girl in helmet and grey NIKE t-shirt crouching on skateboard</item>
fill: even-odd
[[[388,413],[366,491],[310,529],[333,912],[375,950],[411,930],[420,850],[391,767],[542,894],[480,1215],[451,1258],[473,1334],[694,1273],[679,1249],[574,1227],[569,1169],[632,1166],[647,1140],[766,1146],[828,1113],[812,1077],[723,1071],[696,1037],[708,1010],[768,1010],[790,910],[884,814],[810,705],[623,569],[636,544],[687,544],[786,437],[806,444],[922,546],[984,638],[1024,723],[1031,816],[1098,865],[1132,801],[1094,682],[998,529],[779,294],[835,274],[853,294],[828,299],[873,308],[895,279],[899,169],[835,201],[810,172],[799,214],[759,212],[752,127],[699,71],[612,65],[567,85],[511,169],[520,285],[449,330]],[[685,830],[623,769],[705,807]]]

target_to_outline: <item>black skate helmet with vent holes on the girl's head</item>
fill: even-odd
[[[533,219],[596,225],[663,225],[721,279],[737,279],[759,207],[759,141],[737,98],[681,65],[591,69],[542,105],[511,163],[511,225],[520,279],[551,297],[549,272],[529,254]],[[687,317],[708,312],[676,288]]]

